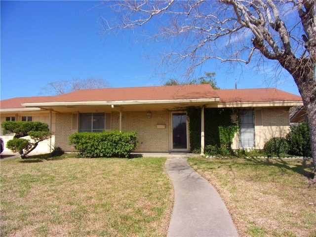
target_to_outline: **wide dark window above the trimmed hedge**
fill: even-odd
[[[110,113],[79,114],[79,132],[102,132],[111,130]]]

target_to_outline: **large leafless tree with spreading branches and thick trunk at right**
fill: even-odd
[[[105,1],[115,19],[102,17],[105,33],[156,26],[147,33],[168,40],[162,62],[188,73],[210,59],[274,61],[296,82],[307,112],[316,180],[316,1],[193,0]],[[155,24],[152,24],[155,21]]]

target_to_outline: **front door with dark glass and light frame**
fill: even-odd
[[[184,112],[172,112],[172,134],[171,144],[172,151],[188,151],[189,139],[188,139],[188,123],[187,113]]]

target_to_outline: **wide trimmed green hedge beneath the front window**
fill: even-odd
[[[69,137],[81,156],[129,157],[137,146],[136,132],[78,132]]]

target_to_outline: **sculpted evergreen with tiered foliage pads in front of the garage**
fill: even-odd
[[[52,136],[48,124],[43,122],[3,121],[1,127],[4,135],[14,133],[13,139],[6,143],[6,147],[13,152],[18,152],[21,158],[26,158],[41,141]],[[26,136],[29,136],[32,141],[21,138]]]

